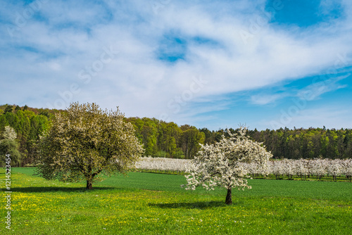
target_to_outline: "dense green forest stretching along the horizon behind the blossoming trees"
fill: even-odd
[[[6,126],[15,130],[21,158],[18,165],[34,163],[39,136],[50,127],[55,113],[60,111],[63,110],[0,106],[0,141],[4,139]],[[193,158],[199,151],[199,144],[213,144],[220,140],[222,134],[227,134],[224,129],[197,129],[156,118],[125,118],[125,121],[130,122],[136,130],[136,136],[144,145],[144,155],[152,157]],[[236,129],[230,131],[237,132]],[[352,158],[351,129],[280,128],[254,129],[247,133],[251,139],[263,142],[274,158]]]

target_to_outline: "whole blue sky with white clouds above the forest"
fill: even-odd
[[[352,128],[352,1],[1,1],[0,103]]]

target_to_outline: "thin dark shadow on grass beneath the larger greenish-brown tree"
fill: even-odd
[[[40,193],[40,192],[85,192],[85,191],[99,191],[99,190],[113,190],[117,189],[114,187],[93,187],[93,189],[87,190],[85,187],[21,187],[21,188],[12,188],[12,192],[21,192],[21,193]]]

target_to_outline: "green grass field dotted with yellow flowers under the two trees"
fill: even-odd
[[[0,234],[351,234],[352,184],[252,179],[252,189],[185,191],[181,175],[130,172],[93,184],[12,168],[11,231],[1,169]],[[3,206],[4,205],[4,206]]]

